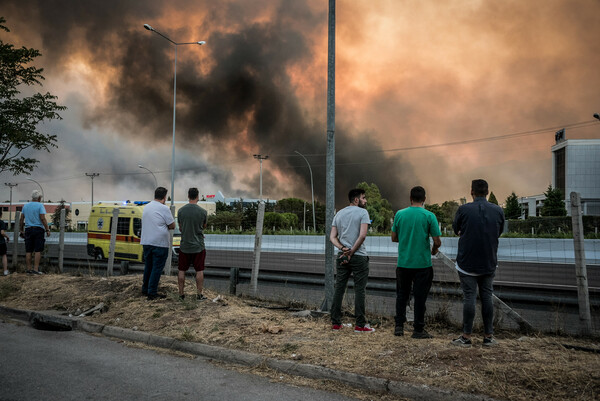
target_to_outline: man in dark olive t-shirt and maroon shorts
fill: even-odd
[[[177,284],[179,285],[179,298],[184,299],[183,287],[185,284],[185,272],[194,266],[196,270],[196,298],[203,301],[206,297],[202,294],[204,285],[204,261],[206,249],[204,248],[204,229],[206,228],[206,210],[198,206],[198,188],[188,190],[189,202],[177,212],[177,222],[181,231],[181,243],[179,245],[179,273]]]

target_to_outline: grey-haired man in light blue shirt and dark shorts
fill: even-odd
[[[50,228],[46,222],[46,209],[41,204],[42,194],[37,189],[31,193],[31,202],[26,203],[21,211],[21,235],[25,238],[25,264],[28,274],[44,274],[40,271],[41,252],[44,250],[46,236],[50,236]],[[31,254],[34,253],[33,269]]]

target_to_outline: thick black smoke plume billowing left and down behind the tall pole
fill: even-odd
[[[239,3],[239,2],[238,2]],[[311,77],[321,86],[316,115],[301,106],[289,68],[311,64],[311,34],[326,34],[327,10],[316,13],[300,1],[0,1],[0,8],[19,7],[23,19],[36,26],[43,38],[45,63],[61,65],[71,53],[89,53],[99,69],[117,71],[108,104],[90,110],[87,123],[110,125],[122,135],[138,135],[148,141],[170,140],[172,124],[173,46],[142,28],[160,23],[172,10],[190,10],[186,29],[155,26],[177,41],[206,40],[200,49],[210,59],[204,66],[198,57],[180,46],[177,67],[177,140],[179,147],[202,150],[203,144],[222,144],[211,159],[227,171],[227,162],[251,158],[248,149],[272,155],[269,168],[293,176],[297,193],[310,196],[310,177],[298,150],[310,156],[315,192],[325,200],[326,71]],[[274,9],[267,21],[246,19],[254,7]],[[198,25],[196,10],[209,10]],[[181,15],[181,14],[178,14]],[[8,21],[10,25],[10,21]],[[231,29],[234,27],[234,29]],[[196,37],[198,32],[208,36]],[[207,58],[203,58],[207,60]],[[336,204],[346,202],[349,188],[358,182],[376,183],[395,206],[405,204],[412,168],[398,157],[388,158],[367,132],[349,123],[336,123]],[[240,143],[244,130],[245,143]],[[189,162],[189,161],[188,161]],[[178,161],[177,167],[187,162]],[[266,168],[266,165],[265,165]],[[205,169],[201,167],[200,170]],[[258,181],[258,168],[254,180]],[[216,175],[217,179],[227,179]],[[264,175],[270,193],[291,193],[273,174]],[[227,182],[222,183],[227,188]],[[275,189],[275,190],[273,190]]]

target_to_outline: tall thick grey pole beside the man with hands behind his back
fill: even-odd
[[[329,0],[327,46],[327,162],[325,202],[325,300],[322,311],[333,302],[333,244],[329,240],[335,211],[335,0]]]

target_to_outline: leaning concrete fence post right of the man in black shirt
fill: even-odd
[[[581,196],[571,192],[571,222],[573,224],[573,249],[575,251],[575,274],[577,276],[577,298],[579,299],[579,322],[582,334],[592,332],[592,315],[590,312],[590,293],[588,292],[587,267],[585,264],[585,248],[583,236],[583,219],[581,217]]]

